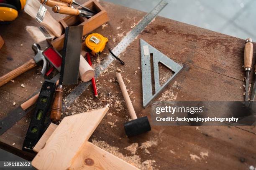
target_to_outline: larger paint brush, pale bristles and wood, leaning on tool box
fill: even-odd
[[[38,0],[27,0],[24,11],[32,18],[35,18],[38,23],[44,25],[56,37],[61,36],[63,30],[61,24],[51,16],[46,7],[41,5]]]

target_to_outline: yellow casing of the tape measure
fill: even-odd
[[[92,42],[90,40],[90,38],[92,36],[99,39],[100,42],[98,44],[96,44],[95,42]],[[92,55],[94,55],[96,57],[99,56],[100,53],[104,50],[107,42],[108,42],[108,38],[103,37],[102,35],[100,35],[98,33],[90,34],[85,39],[85,45],[91,50]]]

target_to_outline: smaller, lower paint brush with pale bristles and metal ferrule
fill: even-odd
[[[36,43],[44,40],[52,40],[56,36],[44,27],[26,26],[26,30]]]

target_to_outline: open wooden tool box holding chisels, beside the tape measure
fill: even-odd
[[[100,25],[108,22],[109,19],[108,19],[107,11],[96,0],[89,0],[85,2],[83,6],[88,7],[91,10],[94,10],[95,12],[97,12],[97,14],[95,14],[89,19],[81,16],[76,16],[76,15],[68,15],[66,18],[59,20],[59,23],[61,23],[61,25],[64,28],[75,26],[75,25],[84,25],[84,30],[83,30],[83,36],[84,36],[89,32],[95,30],[96,28],[100,27]],[[64,37],[65,37],[65,34],[63,32],[63,34],[60,37],[57,37],[56,39],[50,41],[51,45],[56,50],[61,50],[64,44]]]

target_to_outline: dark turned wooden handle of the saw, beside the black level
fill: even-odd
[[[63,96],[62,85],[58,85],[55,91],[54,103],[51,107],[51,122],[54,122],[54,123],[59,122],[61,118],[62,96]]]

